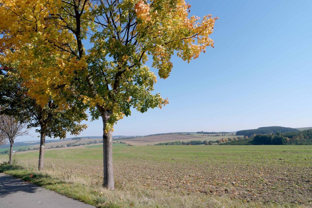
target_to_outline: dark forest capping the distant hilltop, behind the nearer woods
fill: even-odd
[[[252,135],[257,135],[257,134],[275,134],[276,132],[281,132],[281,133],[285,133],[285,132],[290,132],[290,131],[294,131],[294,132],[299,132],[298,129],[294,129],[294,128],[289,128],[289,127],[282,127],[282,126],[268,126],[268,127],[260,127],[257,129],[249,129],[249,130],[241,130],[241,131],[237,131],[236,135],[244,135],[244,136],[252,136]]]

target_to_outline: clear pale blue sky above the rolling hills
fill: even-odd
[[[174,57],[170,77],[154,91],[169,104],[133,111],[114,135],[312,126],[312,1],[187,2],[191,15],[219,17],[215,48],[189,64]],[[102,135],[101,120],[85,123],[80,136]],[[31,134],[18,140],[39,139]]]

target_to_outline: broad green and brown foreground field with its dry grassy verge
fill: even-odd
[[[46,151],[43,173],[37,171],[37,152],[17,154],[17,165],[1,166],[0,171],[97,207],[309,207],[312,203],[312,146],[117,144],[114,191],[101,187],[102,145]],[[0,156],[0,161],[6,158]]]

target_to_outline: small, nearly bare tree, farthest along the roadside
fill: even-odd
[[[13,116],[0,115],[0,131],[10,141],[10,165],[12,165],[13,144],[17,136],[28,135],[27,125],[17,121]]]

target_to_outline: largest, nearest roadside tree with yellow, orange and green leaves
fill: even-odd
[[[2,59],[18,60],[21,76],[37,103],[58,105],[75,83],[92,119],[103,121],[103,186],[114,189],[113,125],[131,114],[168,104],[152,94],[156,75],[144,64],[149,57],[160,78],[184,61],[213,47],[209,35],[217,17],[188,17],[184,0],[2,0]],[[86,51],[82,40],[92,44]],[[13,52],[12,52],[13,51]],[[58,90],[54,89],[55,86]],[[48,90],[48,93],[43,94]]]

